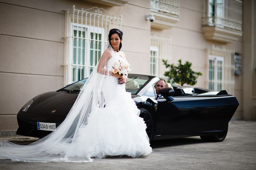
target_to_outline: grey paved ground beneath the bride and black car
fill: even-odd
[[[0,160],[0,169],[256,169],[256,122],[229,123],[226,139],[205,143],[200,137],[153,141],[152,154],[94,159],[88,163]]]

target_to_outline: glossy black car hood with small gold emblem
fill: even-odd
[[[43,93],[34,97],[34,102],[27,112],[51,116],[67,116],[77,97],[78,94],[67,92]]]

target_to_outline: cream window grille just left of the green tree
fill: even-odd
[[[171,38],[161,38],[156,32],[150,37],[150,74],[164,77],[167,71],[163,59],[171,61]]]

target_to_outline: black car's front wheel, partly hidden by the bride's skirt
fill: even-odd
[[[143,107],[139,109],[141,111],[140,117],[143,118],[147,126],[146,133],[148,135],[149,142],[151,142],[154,136],[154,120],[147,109]]]

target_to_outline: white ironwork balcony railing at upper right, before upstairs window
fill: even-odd
[[[205,0],[204,6],[203,25],[217,25],[242,31],[242,1]]]

